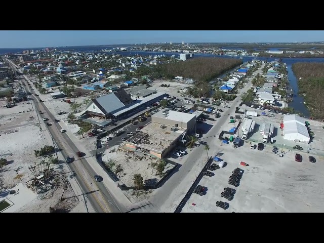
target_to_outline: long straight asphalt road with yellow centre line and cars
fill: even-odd
[[[27,78],[25,76],[25,78]],[[28,78],[27,78],[28,79]],[[26,91],[30,91],[29,86],[24,86]],[[72,154],[67,154],[65,150],[70,150],[73,152],[73,157],[75,160],[72,163],[68,164],[68,167],[70,171],[75,175],[75,178],[79,184],[79,186],[82,188],[83,193],[87,195],[87,200],[91,203],[92,207],[94,208],[95,212],[97,213],[118,213],[119,208],[121,208],[120,205],[116,205],[114,202],[114,198],[112,198],[111,194],[105,187],[105,185],[102,182],[96,182],[94,179],[94,175],[97,175],[97,173],[91,168],[86,158],[78,158],[75,154],[78,150],[78,148],[74,145],[74,143],[71,141],[71,139],[68,137],[67,134],[61,133],[60,130],[62,127],[59,125],[59,123],[54,123],[54,115],[49,112],[47,107],[44,105],[43,102],[39,102],[39,98],[32,95],[33,101],[32,105],[34,105],[34,108],[37,110],[37,114],[39,116],[40,123],[50,123],[52,126],[47,126],[47,129],[55,141],[56,146],[59,149],[62,149],[60,152],[64,157],[70,156],[72,157]],[[47,112],[45,114],[39,114],[38,110],[46,110]],[[48,118],[49,120],[43,121],[43,117]],[[86,155],[87,156],[87,155]],[[86,157],[85,156],[85,157]],[[80,168],[80,166],[77,166],[76,163],[78,162],[78,165],[82,166],[83,168]],[[80,162],[80,163],[79,163]],[[82,170],[83,173],[80,173]],[[92,180],[89,180],[89,178],[92,178]],[[100,194],[101,198],[105,200],[103,203],[102,200],[98,198],[98,194]]]

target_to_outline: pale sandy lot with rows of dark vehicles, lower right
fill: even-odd
[[[207,188],[206,194],[192,194],[182,212],[322,212],[324,164],[321,158],[310,163],[305,155],[303,162],[298,163],[294,152],[279,157],[271,151],[251,149],[249,143],[239,148],[223,145],[219,153],[226,167],[200,180],[198,184]],[[240,166],[240,161],[249,166]],[[234,187],[228,180],[237,167],[244,173],[239,186]],[[236,190],[231,201],[221,197],[225,187]],[[216,201],[220,200],[228,203],[227,210],[216,207]]]

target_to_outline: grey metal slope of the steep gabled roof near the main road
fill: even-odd
[[[92,100],[103,113],[109,114],[113,111],[125,107],[125,105],[115,96],[114,93],[98,97]],[[100,107],[101,106],[101,107]]]

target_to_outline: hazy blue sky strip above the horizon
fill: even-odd
[[[323,30],[0,30],[0,48],[194,42],[324,42]]]

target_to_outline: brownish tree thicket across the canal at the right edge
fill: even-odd
[[[297,62],[292,65],[298,79],[299,94],[304,99],[313,118],[324,120],[324,63]]]

